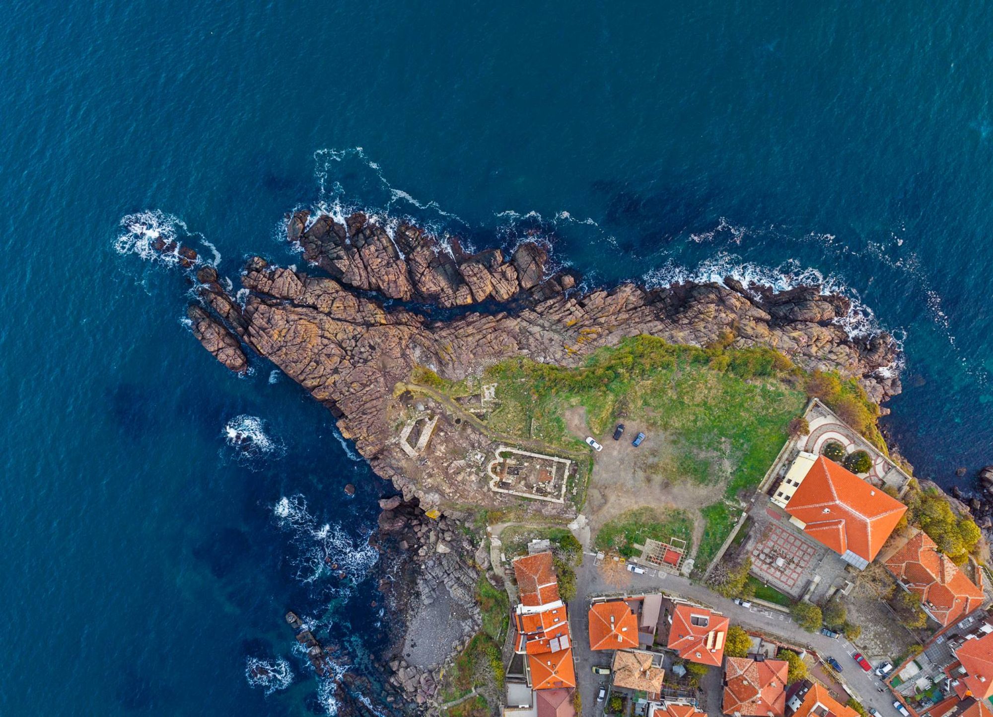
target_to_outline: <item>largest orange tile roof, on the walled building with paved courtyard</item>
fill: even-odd
[[[786,503],[786,512],[835,552],[851,550],[871,562],[907,505],[821,456]]]

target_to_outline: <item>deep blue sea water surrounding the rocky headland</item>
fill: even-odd
[[[272,366],[201,350],[183,277],[127,225],[196,234],[231,276],[299,262],[280,219],[324,203],[480,246],[540,227],[594,283],[820,277],[853,330],[903,341],[886,427],[918,473],[993,463],[981,4],[0,12],[0,714],[334,712],[284,612],[372,677],[393,624],[365,546],[389,487]],[[292,681],[267,694],[252,658]]]

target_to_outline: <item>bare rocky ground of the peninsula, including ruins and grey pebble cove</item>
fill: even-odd
[[[776,292],[728,277],[586,288],[575,272],[551,270],[539,243],[470,253],[458,240],[443,245],[410,224],[387,232],[361,214],[341,223],[298,212],[287,217],[286,238],[313,269],[256,256],[236,293],[190,247],[158,248],[179,250],[195,273],[199,302],[188,317],[205,349],[235,372],[247,370],[252,355],[274,363],[334,413],[372,470],[396,487],[399,495],[380,502],[380,539],[418,569],[407,583],[380,590],[408,616],[425,618],[421,624],[433,624],[439,609],[458,615],[455,634],[433,635],[433,644],[464,646],[480,629],[477,569],[502,580],[479,536],[463,529],[474,513],[505,508],[513,494],[496,489],[504,484],[488,475],[487,457],[503,443],[547,452],[540,435],[501,435],[479,420],[486,401],[498,400],[478,385],[488,366],[525,358],[575,368],[648,335],[672,345],[774,349],[804,370],[854,379],[876,404],[901,390],[890,368],[896,343],[885,333],[849,336],[838,321],[849,301],[817,286]],[[468,397],[433,387],[466,381],[476,386]],[[545,494],[521,510],[561,522],[576,517],[570,495],[589,476],[581,457],[568,458],[560,483],[555,468],[537,469],[550,471],[539,481],[555,488],[539,486]],[[427,641],[417,641],[408,633],[390,666],[393,683],[424,704],[435,699],[440,671],[422,654]]]

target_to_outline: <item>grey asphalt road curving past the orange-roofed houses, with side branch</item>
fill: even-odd
[[[741,625],[745,629],[778,636],[787,643],[812,647],[822,657],[828,655],[835,657],[842,666],[842,680],[866,709],[875,708],[883,717],[899,717],[899,713],[893,707],[893,697],[890,696],[890,691],[885,688],[882,680],[875,673],[865,672],[851,658],[850,655],[858,649],[848,641],[844,639],[833,640],[820,634],[812,635],[795,625],[788,615],[755,606],[750,609],[743,608],[683,577],[666,573],[657,575],[632,573],[631,579],[631,585],[628,588],[630,594],[637,594],[639,591],[663,590],[671,595],[682,596],[709,605],[731,618],[733,624]],[[576,588],[577,597],[569,604],[569,619],[576,653],[577,678],[583,697],[583,714],[588,717],[599,717],[603,713],[603,706],[597,704],[596,692],[604,678],[594,675],[590,666],[607,664],[609,659],[606,655],[590,650],[586,616],[587,605],[591,595],[618,591],[604,582],[599,569],[594,565],[594,556],[590,553],[583,556],[583,564],[576,570]],[[879,687],[883,687],[885,691],[879,692]],[[719,700],[719,697],[717,699]],[[708,701],[713,700],[714,696],[711,696]]]

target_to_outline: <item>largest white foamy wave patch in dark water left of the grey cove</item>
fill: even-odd
[[[310,584],[333,573],[344,572],[348,586],[341,588],[343,597],[351,595],[351,587],[361,582],[379,560],[379,553],[368,544],[372,531],[355,539],[341,523],[321,523],[307,510],[301,495],[282,497],[272,506],[276,524],[291,533],[298,555],[292,560],[296,577]]]

